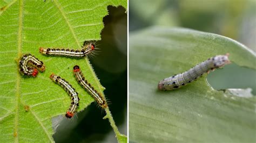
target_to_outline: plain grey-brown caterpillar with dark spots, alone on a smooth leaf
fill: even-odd
[[[230,60],[228,60],[228,55],[229,54],[227,53],[226,55],[213,56],[212,58],[201,62],[199,65],[192,67],[184,73],[167,77],[158,83],[158,89],[174,90],[180,88],[187,83],[196,80],[204,73],[209,73],[210,70],[214,70],[215,68],[221,68],[226,64],[231,63]]]

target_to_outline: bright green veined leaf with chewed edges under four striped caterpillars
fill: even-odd
[[[87,80],[103,94],[87,58],[44,56],[39,47],[78,49],[85,40],[100,40],[107,6],[127,1],[2,1],[0,2],[0,142],[53,142],[52,117],[64,115],[70,97],[49,76],[55,73],[79,93],[79,109],[93,98],[76,82],[79,65]],[[100,47],[103,48],[103,47]],[[36,78],[19,74],[18,59],[31,53],[46,65]]]

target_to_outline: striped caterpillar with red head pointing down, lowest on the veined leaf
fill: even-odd
[[[72,87],[72,85],[69,84],[69,82],[65,81],[63,78],[60,76],[57,76],[55,74],[51,74],[50,76],[51,80],[57,84],[59,84],[64,90],[70,95],[71,97],[71,105],[68,111],[66,111],[66,118],[72,118],[73,115],[76,113],[76,109],[79,106],[79,97],[78,93],[76,90]]]

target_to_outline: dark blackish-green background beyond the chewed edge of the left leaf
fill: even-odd
[[[96,43],[98,54],[90,62],[106,88],[104,94],[120,133],[127,135],[127,15],[122,6],[107,8],[102,40]],[[72,120],[55,118],[53,128],[59,126],[53,138],[56,142],[117,142],[104,116],[105,112],[92,103]]]

